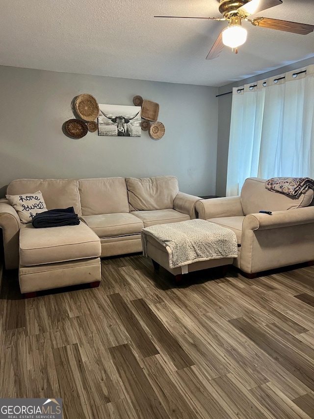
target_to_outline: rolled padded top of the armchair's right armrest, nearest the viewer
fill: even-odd
[[[314,223],[314,206],[274,211],[272,215],[248,214],[243,220],[242,231],[245,229],[252,231],[267,230],[310,223]]]

